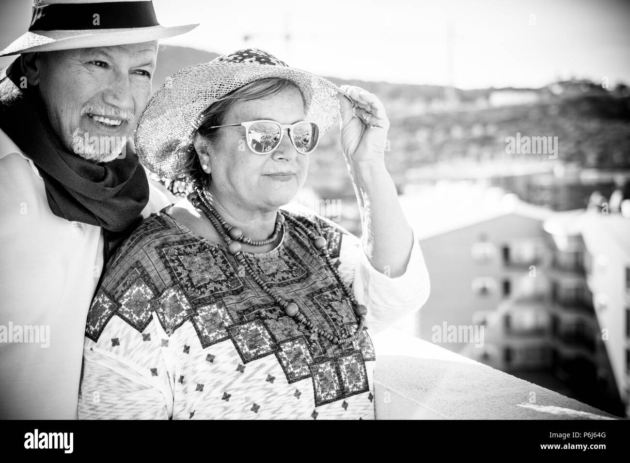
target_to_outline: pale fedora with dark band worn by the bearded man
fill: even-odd
[[[159,25],[151,0],[33,0],[28,32],[0,56],[151,42],[197,26]]]

